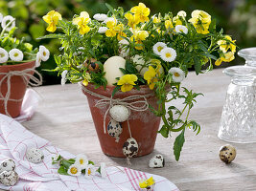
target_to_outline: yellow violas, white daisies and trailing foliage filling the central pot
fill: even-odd
[[[143,3],[128,11],[108,4],[106,7],[108,12],[95,15],[81,12],[72,19],[60,20],[57,15],[52,23],[46,20],[47,25],[53,25],[54,29],[56,26],[58,31],[51,30],[41,38],[60,41],[62,53],[55,55],[55,71],[62,75],[61,84],[69,80],[84,86],[91,83],[96,89],[105,88],[105,61],[113,56],[123,57],[126,64],[120,68],[122,75],[117,76],[118,82],[112,84],[115,86],[112,95],[148,86],[159,104],[157,110],[151,111],[164,122],[159,134],[165,138],[173,132],[178,134],[174,143],[178,160],[186,130],[193,129],[197,134],[200,131],[199,124],[189,117],[200,94],[182,87],[182,81],[191,69],[204,74],[214,64],[232,61],[236,41],[217,30],[212,12],[170,11],[151,15],[150,8]],[[175,99],[183,100],[182,109],[174,106]],[[172,106],[166,108],[166,102]]]

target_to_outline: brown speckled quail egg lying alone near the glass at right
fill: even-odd
[[[237,151],[234,146],[230,144],[226,144],[224,146],[221,146],[220,149],[220,159],[227,163],[230,163],[233,159],[236,158]]]

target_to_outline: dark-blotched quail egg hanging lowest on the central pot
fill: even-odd
[[[127,158],[133,158],[138,154],[139,145],[134,138],[128,138],[123,145],[123,153]]]

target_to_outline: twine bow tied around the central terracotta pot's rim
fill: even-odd
[[[148,94],[148,95],[134,95],[134,96],[127,96],[125,98],[113,98],[112,96],[107,97],[107,96],[103,96],[103,95],[99,95],[97,93],[91,92],[89,91],[87,88],[85,88],[81,83],[79,83],[81,85],[81,89],[88,93],[91,96],[96,96],[101,98],[100,100],[98,100],[95,104],[96,107],[98,108],[102,108],[103,106],[107,106],[108,108],[105,111],[105,116],[104,116],[104,133],[106,133],[106,129],[105,129],[105,118],[109,112],[109,110],[114,106],[114,105],[124,105],[128,108],[129,112],[135,111],[135,112],[144,112],[146,110],[149,109],[149,103],[147,100],[147,97],[152,96],[152,94]],[[142,99],[142,100],[138,100],[138,99]],[[138,104],[142,104],[141,106],[138,106]],[[129,122],[128,122],[128,133],[129,133],[129,137],[132,138],[131,135],[131,131],[130,131],[130,127],[129,127]]]

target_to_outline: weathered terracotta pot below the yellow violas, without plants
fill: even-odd
[[[145,96],[152,94],[152,96],[147,97],[148,103],[153,107],[157,108],[157,98],[153,95],[153,92],[148,88],[148,86],[141,86],[140,91],[132,89],[127,93],[117,92],[113,98],[124,98],[127,96]],[[114,87],[107,86],[106,89],[100,87],[98,89],[94,89],[92,84],[86,86],[91,92],[95,92],[99,95],[110,97]],[[122,122],[123,133],[120,135],[119,142],[115,141],[115,138],[110,137],[107,133],[104,133],[104,116],[109,105],[105,105],[103,108],[95,107],[95,104],[99,97],[91,96],[88,93],[82,90],[83,94],[87,96],[91,115],[94,121],[94,125],[98,134],[98,138],[101,143],[101,147],[105,155],[125,158],[123,154],[123,144],[129,138],[128,133],[128,122]],[[139,151],[137,156],[145,156],[152,152],[157,131],[159,129],[160,117],[155,117],[150,109],[145,112],[136,112],[130,111],[130,116],[128,118],[129,126],[131,130],[132,137],[135,138],[139,145]],[[110,120],[109,113],[106,116],[105,126]]]

